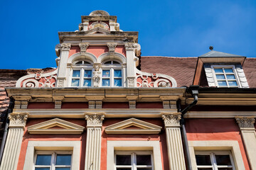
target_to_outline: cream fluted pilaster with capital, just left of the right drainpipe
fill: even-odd
[[[181,113],[164,113],[162,115],[166,129],[166,142],[170,170],[186,170],[181,140]]]

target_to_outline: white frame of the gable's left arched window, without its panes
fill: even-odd
[[[90,64],[81,64],[81,65],[75,65],[77,62],[89,62]],[[73,71],[74,70],[80,70],[80,77],[74,77],[73,78]],[[93,86],[93,81],[92,81],[92,77],[90,77],[91,79],[91,86],[83,86],[83,81],[84,79],[86,79],[86,77],[84,77],[85,74],[85,70],[90,70],[92,71],[92,77],[93,77],[93,66],[92,63],[89,60],[75,60],[75,62],[73,62],[72,67],[71,67],[71,74],[70,74],[70,87],[92,87]],[[72,79],[79,79],[79,86],[72,86]]]

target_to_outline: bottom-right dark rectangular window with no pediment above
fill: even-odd
[[[198,170],[234,170],[234,163],[229,152],[196,152],[196,167]]]

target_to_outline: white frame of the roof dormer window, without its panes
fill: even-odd
[[[215,81],[215,85],[216,85],[217,87],[238,87],[238,88],[241,87],[240,79],[239,79],[239,77],[238,77],[238,73],[236,72],[235,65],[211,65],[210,67],[211,67],[211,69],[212,69],[213,78],[214,78],[214,81]],[[215,70],[214,70],[215,68],[218,68],[218,69],[225,69],[225,68],[231,69],[231,68],[232,68],[232,69],[233,69],[233,72],[234,72],[234,75],[235,75],[235,81],[237,82],[238,86],[230,86],[230,85],[228,84],[228,79],[227,79],[225,73],[223,73],[223,74],[224,74],[225,81],[227,82],[227,85],[228,85],[228,86],[219,86],[219,85],[218,85],[218,79],[217,79],[217,77],[216,77],[216,73],[215,73]],[[223,79],[223,81],[224,81],[224,79]],[[234,81],[234,80],[233,80],[233,81]]]

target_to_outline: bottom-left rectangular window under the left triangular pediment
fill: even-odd
[[[72,154],[70,152],[37,152],[35,170],[70,170]]]

